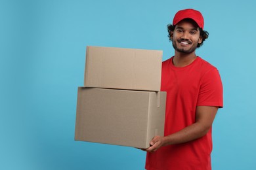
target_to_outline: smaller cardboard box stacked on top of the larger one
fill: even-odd
[[[84,86],[160,92],[160,50],[87,46]]]

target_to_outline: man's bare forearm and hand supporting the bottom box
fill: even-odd
[[[154,152],[161,146],[186,143],[203,137],[211,128],[217,110],[218,107],[198,106],[196,108],[196,122],[194,124],[166,137],[154,137],[150,142],[150,147],[145,149],[145,151]]]

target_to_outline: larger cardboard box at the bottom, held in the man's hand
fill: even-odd
[[[163,135],[166,92],[78,88],[75,140],[148,148]]]

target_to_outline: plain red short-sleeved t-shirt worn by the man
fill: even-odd
[[[223,86],[219,71],[197,57],[186,67],[175,67],[173,58],[162,63],[161,91],[167,92],[165,136],[196,122],[197,106],[223,107]],[[148,170],[209,170],[212,139],[208,133],[188,143],[163,146],[147,153]]]

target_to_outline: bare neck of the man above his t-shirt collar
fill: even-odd
[[[186,54],[186,53],[175,51],[175,56],[173,58],[173,65],[175,65],[175,67],[185,67],[186,65],[190,65],[190,63],[192,63],[195,59],[196,59],[195,52]]]

